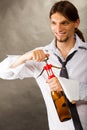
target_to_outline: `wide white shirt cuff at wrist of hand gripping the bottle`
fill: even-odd
[[[79,82],[76,80],[59,77],[64,93],[70,102],[79,100]]]

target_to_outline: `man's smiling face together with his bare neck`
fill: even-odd
[[[73,22],[64,17],[60,12],[50,16],[51,29],[56,37],[56,47],[60,50],[62,56],[66,58],[68,52],[75,44],[75,28],[78,28],[79,18]]]

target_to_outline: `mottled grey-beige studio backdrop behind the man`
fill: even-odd
[[[57,0],[0,0],[0,61],[53,39],[49,10]],[[70,0],[78,9],[87,41],[87,0]],[[1,68],[0,68],[1,69]],[[42,94],[34,79],[0,79],[0,130],[48,130]]]

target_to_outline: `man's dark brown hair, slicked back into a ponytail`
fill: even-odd
[[[50,10],[49,17],[51,18],[51,15],[56,12],[61,13],[64,17],[72,22],[75,22],[77,19],[79,19],[78,10],[71,2],[67,0],[56,2]],[[79,29],[76,28],[75,33],[80,37],[82,41],[85,41],[84,36]]]

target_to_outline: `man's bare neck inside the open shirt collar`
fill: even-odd
[[[62,43],[57,40],[56,45],[57,45],[57,48],[60,51],[61,55],[65,59],[67,57],[69,51],[74,47],[75,39],[72,38],[72,39],[68,40],[67,42],[62,42]]]

